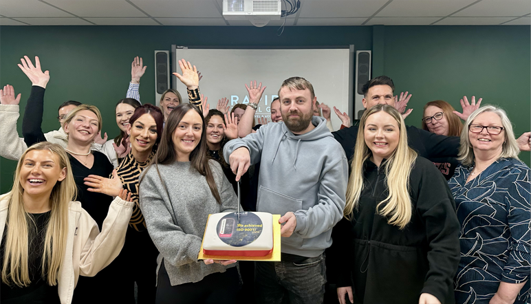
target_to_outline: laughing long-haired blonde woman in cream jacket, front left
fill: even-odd
[[[120,252],[133,206],[126,194],[113,200],[99,233],[72,202],[65,150],[41,142],[25,151],[12,190],[0,196],[1,302],[70,303],[78,276],[94,276]]]

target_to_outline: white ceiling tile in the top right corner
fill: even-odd
[[[483,0],[452,17],[517,17],[530,12],[529,0]]]

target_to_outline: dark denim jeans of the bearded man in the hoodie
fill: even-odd
[[[325,255],[310,257],[300,263],[254,263],[254,287],[257,303],[321,304],[325,294]]]

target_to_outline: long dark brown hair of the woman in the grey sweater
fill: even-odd
[[[201,111],[199,111],[199,109],[197,109],[197,107],[185,103],[183,105],[178,105],[170,112],[170,115],[166,120],[164,130],[162,131],[162,139],[160,140],[157,154],[155,155],[155,168],[159,174],[160,182],[162,182],[160,171],[158,171],[158,164],[171,164],[176,162],[177,151],[175,151],[175,146],[173,145],[173,133],[175,132],[175,129],[177,129],[179,122],[181,122],[182,118],[186,115],[186,113],[188,113],[188,111],[195,111],[199,117],[201,117],[202,121],[201,140],[199,141],[199,144],[195,146],[195,149],[193,149],[193,151],[190,153],[191,166],[193,166],[193,168],[197,170],[199,174],[206,177],[206,182],[208,183],[210,192],[215,197],[216,202],[221,205],[221,197],[219,195],[219,191],[217,191],[214,176],[210,170],[210,164],[208,164],[208,146],[206,145],[205,120],[203,118],[203,114]],[[151,164],[153,165],[153,162],[151,162]],[[162,184],[164,184],[164,182],[162,182]]]

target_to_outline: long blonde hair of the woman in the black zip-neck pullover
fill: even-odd
[[[384,166],[389,195],[376,206],[376,210],[382,217],[388,217],[388,224],[403,229],[411,221],[413,215],[413,206],[409,196],[409,174],[417,159],[417,153],[407,144],[404,119],[395,108],[389,105],[375,105],[363,113],[356,138],[356,148],[351,164],[352,171],[347,186],[347,205],[343,215],[351,219],[354,209],[358,209],[360,204],[360,195],[364,186],[364,163],[372,155],[372,151],[365,143],[365,123],[369,116],[379,111],[388,113],[398,122],[400,137],[395,151],[389,156],[387,162],[381,164]]]

